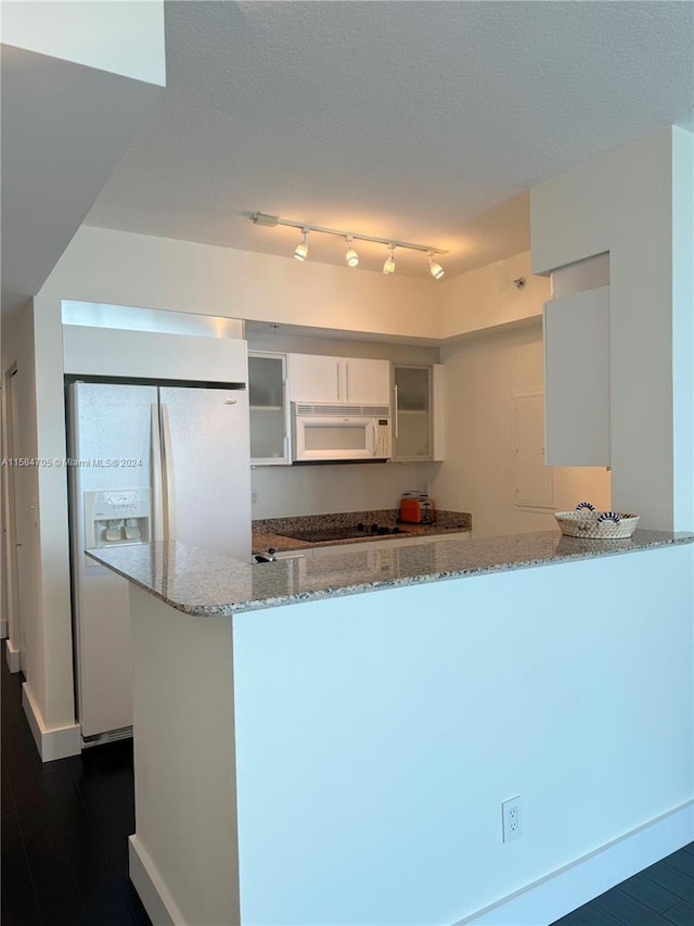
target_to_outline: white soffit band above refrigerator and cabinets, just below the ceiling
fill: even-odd
[[[513,280],[526,278],[517,289]],[[526,252],[442,283],[82,226],[47,281],[62,299],[428,343],[539,316]],[[269,350],[264,347],[264,350]]]

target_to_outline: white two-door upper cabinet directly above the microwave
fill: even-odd
[[[292,402],[350,402],[388,405],[390,364],[358,357],[290,354]]]

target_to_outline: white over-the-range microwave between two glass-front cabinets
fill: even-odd
[[[293,402],[294,462],[390,458],[390,408],[329,402]]]

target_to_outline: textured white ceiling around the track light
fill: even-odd
[[[530,186],[694,129],[689,0],[169,2],[166,43],[167,88],[90,225],[291,254],[296,230],[260,211],[448,249],[450,276],[529,248]],[[383,246],[359,251],[380,269]]]

